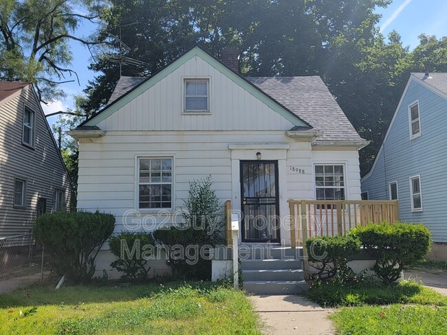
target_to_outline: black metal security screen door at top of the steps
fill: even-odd
[[[241,161],[242,242],[279,242],[278,163]]]

